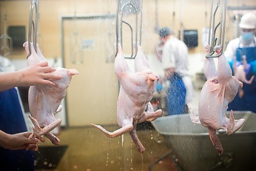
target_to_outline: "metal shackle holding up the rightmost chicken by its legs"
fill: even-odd
[[[208,35],[208,45],[210,45],[210,53],[206,55],[206,58],[217,58],[223,52],[224,47],[224,36],[225,36],[225,21],[226,21],[226,7],[227,0],[224,0],[224,11],[221,8],[220,0],[218,0],[217,6],[215,8],[214,14],[212,15],[212,8],[214,6],[214,0],[211,0],[211,11],[210,11],[210,24],[209,24],[209,35]],[[215,25],[215,18],[217,11],[220,10],[220,22]],[[216,37],[216,30],[219,27],[219,37]],[[221,52],[216,53],[215,47],[221,46]]]

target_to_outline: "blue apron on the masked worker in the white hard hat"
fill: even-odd
[[[255,44],[255,42],[254,42]],[[240,43],[239,43],[240,45]],[[246,79],[249,80],[252,75],[256,78],[256,46],[240,48],[238,46],[236,51],[237,61],[242,61],[242,55],[246,55],[246,61],[251,65]],[[228,110],[250,110],[256,112],[256,81],[253,80],[252,84],[243,83],[244,96],[240,98],[237,96],[228,105]]]

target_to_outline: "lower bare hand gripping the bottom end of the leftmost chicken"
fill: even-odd
[[[21,132],[18,134],[8,134],[6,139],[6,145],[4,148],[7,149],[26,149],[28,145],[32,144],[30,149],[36,146],[36,143],[39,141],[36,138],[29,138],[31,132]]]

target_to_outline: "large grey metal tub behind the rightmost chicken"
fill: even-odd
[[[173,148],[183,170],[255,170],[256,113],[234,111],[234,118],[246,121],[230,136],[218,131],[224,149],[222,155],[212,145],[207,129],[193,124],[188,114],[161,117],[152,124]]]

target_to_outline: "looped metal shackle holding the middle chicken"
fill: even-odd
[[[133,28],[132,26],[123,21],[123,9],[125,6],[130,5],[131,7],[134,8],[135,12],[136,12],[136,23],[135,23],[135,42],[134,42],[134,37],[133,37]],[[120,14],[119,14],[120,13]],[[141,27],[142,27],[142,0],[141,0],[141,6],[140,6],[140,28],[139,28],[139,42],[138,42],[138,9],[136,8],[136,6],[131,2],[127,2],[125,4],[122,5],[121,9],[119,8],[119,1],[117,2],[117,11],[116,11],[116,55],[118,52],[118,43],[123,43],[123,33],[122,33],[122,24],[126,24],[127,26],[129,26],[130,30],[131,30],[131,51],[132,54],[131,56],[124,56],[125,59],[135,59],[137,52],[138,52],[138,48],[137,45],[141,45]],[[136,46],[134,46],[134,44]],[[135,49],[135,54],[134,54],[134,49]],[[115,55],[115,56],[116,56]]]

